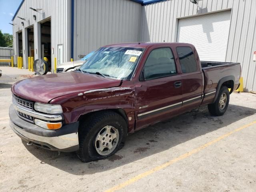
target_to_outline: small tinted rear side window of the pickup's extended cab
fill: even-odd
[[[176,48],[182,73],[195,72],[197,70],[196,59],[190,47],[177,47]]]

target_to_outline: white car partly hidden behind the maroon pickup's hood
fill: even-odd
[[[95,51],[90,52],[86,56],[84,56],[82,59],[77,60],[77,61],[70,61],[70,62],[64,62],[60,65],[57,66],[56,72],[61,73],[61,72],[67,72],[70,70],[74,70],[76,67],[80,67],[84,62],[94,54]]]

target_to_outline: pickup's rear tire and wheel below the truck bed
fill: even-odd
[[[222,86],[220,88],[220,92],[218,94],[216,101],[212,104],[208,104],[208,111],[213,116],[222,116],[226,112],[228,108],[228,104],[229,104],[229,91],[226,86]]]

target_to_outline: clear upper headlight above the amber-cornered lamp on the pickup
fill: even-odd
[[[48,113],[48,114],[61,114],[62,107],[60,105],[55,104],[43,104],[43,103],[35,103],[34,108],[36,111]]]

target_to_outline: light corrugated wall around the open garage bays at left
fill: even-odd
[[[35,12],[32,8],[41,8],[42,10],[39,12]],[[42,14],[41,14],[42,13]],[[33,19],[33,15],[36,15],[36,20]],[[25,18],[23,21],[20,16]],[[57,46],[58,44],[63,44],[63,55],[64,62],[70,60],[71,54],[71,0],[25,0],[22,4],[18,14],[13,20],[13,23],[16,24],[13,27],[13,42],[16,41],[16,32],[22,30],[22,40],[23,40],[23,63],[26,64],[26,68],[28,68],[28,49],[26,48],[26,28],[34,25],[34,49],[35,49],[35,57],[34,59],[38,59],[38,53],[41,50],[40,45],[38,45],[38,37],[40,36],[38,31],[38,22],[42,22],[46,18],[51,18],[51,46],[53,48],[52,58],[57,58]],[[21,25],[21,22],[24,22],[24,26]],[[17,57],[17,45],[14,45],[14,58],[16,62]],[[26,49],[26,51],[24,51]],[[54,59],[52,59],[52,66],[54,63]]]

